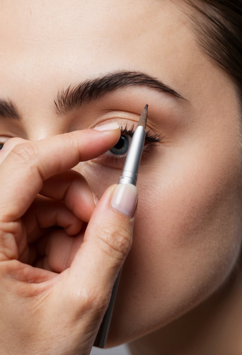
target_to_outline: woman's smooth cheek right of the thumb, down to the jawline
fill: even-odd
[[[238,155],[211,159],[206,150],[201,157],[184,154],[183,159],[181,151],[171,155],[172,164],[164,160],[162,170],[149,171],[148,183],[139,175],[133,245],[110,339],[121,339],[123,333],[127,341],[129,332],[141,336],[196,306],[224,282],[238,257]]]

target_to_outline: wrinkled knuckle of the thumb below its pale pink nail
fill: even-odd
[[[107,224],[100,230],[98,241],[108,256],[123,260],[131,247],[131,231],[124,226]]]

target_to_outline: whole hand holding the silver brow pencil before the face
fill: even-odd
[[[111,186],[95,207],[86,180],[70,169],[119,137],[119,130],[83,130],[16,146],[13,138],[0,151],[1,355],[90,353],[131,246],[137,190],[118,185],[110,203]],[[116,198],[123,189],[129,211]]]

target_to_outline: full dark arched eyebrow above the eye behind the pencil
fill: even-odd
[[[54,99],[55,111],[58,115],[69,113],[81,107],[84,103],[89,103],[124,86],[146,86],[160,92],[169,93],[189,103],[180,93],[158,80],[158,78],[139,71],[115,71],[98,78],[85,80],[72,89],[71,84],[65,91],[62,88]]]

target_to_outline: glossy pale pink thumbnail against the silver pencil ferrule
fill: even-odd
[[[111,198],[112,208],[126,217],[133,217],[138,201],[137,187],[132,184],[118,184]]]

